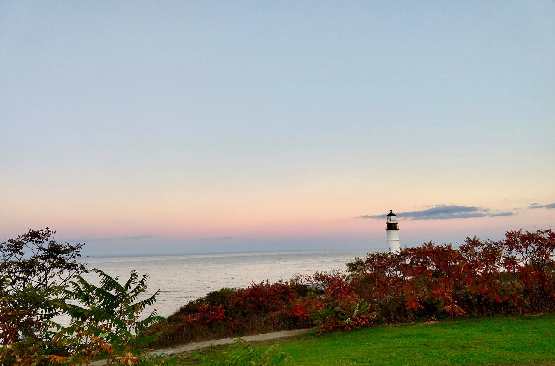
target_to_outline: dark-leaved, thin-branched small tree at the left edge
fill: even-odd
[[[51,319],[60,312],[69,279],[86,270],[77,261],[84,244],[60,244],[54,233],[29,230],[0,243],[2,365],[49,364],[63,353],[51,342]]]

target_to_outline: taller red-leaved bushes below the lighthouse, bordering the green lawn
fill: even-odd
[[[497,242],[467,238],[458,249],[430,242],[398,254],[371,253],[351,263],[351,276],[357,293],[377,298],[388,321],[393,311],[404,314],[401,321],[553,311],[554,241],[551,230],[520,230]]]

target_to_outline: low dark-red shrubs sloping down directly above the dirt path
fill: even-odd
[[[190,301],[168,317],[156,347],[245,333],[268,333],[312,326],[310,311],[299,293],[311,293],[300,276],[291,282],[252,283],[249,287],[223,288]]]

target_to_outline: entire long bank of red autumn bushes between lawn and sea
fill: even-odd
[[[370,253],[347,272],[317,272],[291,283],[229,289],[218,302],[182,316],[184,327],[241,332],[252,319],[279,327],[314,324],[322,332],[442,317],[548,312],[555,309],[555,232],[510,231],[505,240],[467,238]]]

